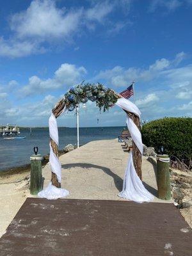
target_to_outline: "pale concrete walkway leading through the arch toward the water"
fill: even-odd
[[[128,157],[129,153],[117,139],[92,141],[61,156],[61,186],[70,192],[67,198],[123,200],[118,197],[118,193],[122,190]],[[142,161],[143,183],[156,196],[156,174],[153,164],[147,158],[143,157]],[[44,168],[43,177],[44,186],[47,186],[51,180],[48,164]],[[154,202],[167,201],[156,197]]]

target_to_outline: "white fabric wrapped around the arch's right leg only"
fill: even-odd
[[[116,102],[116,105],[138,116],[141,115],[138,107],[134,103],[132,103],[130,100],[127,100],[125,98],[118,99]],[[141,154],[143,154],[143,143],[141,139],[141,132],[128,115],[127,115],[127,128],[129,129],[132,140],[140,150]],[[123,189],[122,189],[122,192],[119,194],[119,196],[128,200],[132,200],[134,202],[139,202],[139,203],[150,202],[154,198],[154,196],[150,194],[147,191],[147,189],[143,186],[143,183],[141,182],[140,177],[138,177],[136,173],[136,170],[134,168],[133,161],[132,161],[132,152],[130,154],[130,157],[127,163],[127,168],[125,170]]]

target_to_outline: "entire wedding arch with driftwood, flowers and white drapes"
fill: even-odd
[[[70,88],[63,99],[52,109],[49,118],[51,183],[43,191],[40,191],[38,196],[53,199],[68,195],[66,189],[61,189],[61,163],[58,156],[59,138],[56,118],[67,110],[73,111],[77,105],[86,103],[88,100],[95,101],[100,111],[105,112],[116,104],[127,114],[127,127],[132,137],[132,152],[125,170],[123,189],[119,196],[136,202],[149,202],[153,196],[141,182],[143,144],[140,133],[140,110],[130,100],[100,83],[82,83]]]

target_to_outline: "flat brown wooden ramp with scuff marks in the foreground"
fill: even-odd
[[[172,204],[28,198],[0,240],[1,256],[191,256]]]

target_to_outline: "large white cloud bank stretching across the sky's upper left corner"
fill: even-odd
[[[72,42],[74,36],[81,35],[82,29],[93,30],[97,24],[104,25],[119,4],[129,5],[129,1],[115,0],[91,2],[90,8],[58,8],[56,3],[54,0],[33,0],[26,10],[13,14],[10,17],[12,35],[6,39],[1,36],[0,55],[17,58],[42,54],[51,45],[63,47]],[[110,24],[114,26],[114,22]],[[117,33],[122,24],[118,22],[115,26]]]

